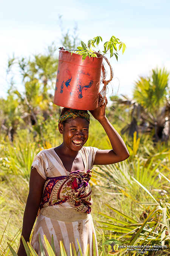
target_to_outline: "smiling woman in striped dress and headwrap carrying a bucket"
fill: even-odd
[[[63,240],[68,255],[70,242],[74,243],[77,250],[76,238],[83,255],[87,243],[90,244],[90,256],[93,255],[92,234],[95,235],[95,230],[90,214],[90,170],[93,165],[113,164],[129,157],[124,141],[105,115],[105,104],[90,112],[105,129],[113,149],[83,147],[88,140],[89,114],[86,111],[63,108],[59,118],[59,132],[63,135],[63,143],[56,148],[40,151],[32,163],[22,235],[29,241],[40,207],[31,241],[39,255],[39,233],[41,239],[45,234],[50,243],[53,234],[57,255],[60,240]],[[54,183],[56,188],[53,187]],[[18,255],[26,255],[22,242]]]

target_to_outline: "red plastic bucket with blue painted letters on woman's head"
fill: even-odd
[[[54,104],[73,109],[97,108],[103,57],[82,61],[82,56],[59,51]]]

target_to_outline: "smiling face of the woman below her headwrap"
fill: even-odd
[[[88,140],[89,122],[84,118],[69,119],[68,123],[59,124],[59,132],[63,135],[64,145],[79,151]]]

